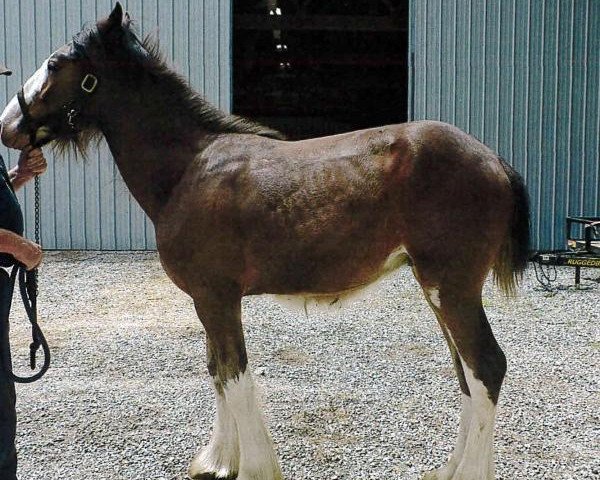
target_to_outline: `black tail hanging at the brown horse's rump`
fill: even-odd
[[[529,259],[529,195],[519,175],[503,158],[498,157],[513,193],[510,229],[494,264],[494,280],[506,295],[514,295]]]

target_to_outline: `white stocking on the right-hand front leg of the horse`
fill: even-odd
[[[249,370],[225,384],[227,406],[235,418],[240,442],[238,480],[282,480],[271,436],[256,402]]]

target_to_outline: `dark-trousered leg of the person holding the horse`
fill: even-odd
[[[6,373],[6,367],[12,368],[8,335],[11,296],[9,276],[6,270],[0,268],[0,479],[2,480],[17,478],[15,384]]]

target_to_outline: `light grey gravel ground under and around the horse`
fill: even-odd
[[[484,302],[509,370],[496,429],[498,479],[600,478],[600,278],[549,294],[528,272]],[[192,303],[153,253],[49,253],[43,380],[18,387],[20,478],[182,480],[209,437],[214,397]],[[19,317],[17,317],[19,315]],[[268,297],[243,315],[252,368],[286,479],[419,479],[455,439],[449,353],[410,270],[338,312]],[[13,317],[14,361],[28,332]],[[24,369],[19,369],[24,372]]]

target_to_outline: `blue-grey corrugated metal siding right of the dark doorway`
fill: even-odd
[[[538,248],[600,215],[600,1],[411,0],[411,112],[453,123],[525,177]]]

